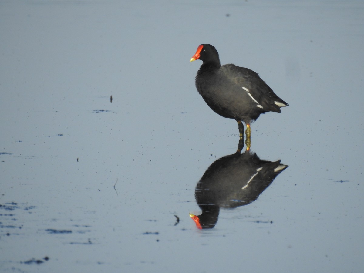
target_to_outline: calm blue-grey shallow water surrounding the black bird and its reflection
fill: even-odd
[[[361,1],[1,2],[1,271],[360,272],[363,13]],[[289,167],[207,230],[189,217],[195,187],[236,151],[238,128],[195,89],[201,43],[290,104],[252,124],[251,148]]]

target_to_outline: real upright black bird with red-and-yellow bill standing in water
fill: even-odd
[[[258,73],[235,64],[220,64],[219,54],[214,46],[201,44],[190,62],[202,60],[197,71],[197,91],[208,106],[217,114],[238,122],[240,139],[244,138],[246,124],[246,150],[251,146],[250,124],[265,112],[281,112],[289,106],[274,94],[272,88]]]

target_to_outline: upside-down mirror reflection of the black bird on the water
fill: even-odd
[[[288,166],[281,161],[264,161],[245,151],[217,159],[205,171],[195,189],[201,215],[190,217],[199,229],[211,229],[218,220],[220,208],[248,205]]]

